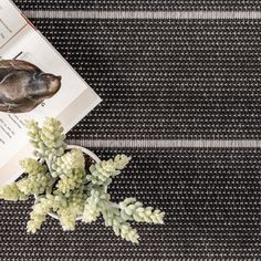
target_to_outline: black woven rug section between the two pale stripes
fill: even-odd
[[[104,100],[70,138],[261,136],[261,21],[33,22]]]

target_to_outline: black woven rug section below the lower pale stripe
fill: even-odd
[[[108,157],[119,150],[95,152]],[[79,223],[75,232],[62,232],[49,220],[38,234],[27,236],[30,203],[1,202],[1,260],[260,257],[260,149],[121,152],[134,158],[112,187],[117,190],[114,199],[136,196],[161,206],[167,212],[164,227],[137,226],[138,247],[121,241],[102,222]]]

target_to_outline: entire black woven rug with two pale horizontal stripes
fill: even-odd
[[[70,143],[132,155],[114,198],[167,216],[132,246],[102,221],[28,236],[31,202],[1,201],[0,260],[260,260],[261,2],[15,3],[104,100]]]

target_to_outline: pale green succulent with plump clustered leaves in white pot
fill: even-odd
[[[28,122],[27,126],[39,160],[21,160],[27,176],[1,188],[0,198],[17,201],[36,196],[28,232],[36,232],[50,212],[59,216],[64,230],[74,230],[79,217],[85,223],[103,217],[106,227],[133,243],[138,242],[139,236],[129,221],[164,223],[164,212],[144,207],[135,198],[119,203],[111,201],[107,186],[128,165],[130,157],[117,155],[92,164],[86,171],[82,150],[67,149],[59,121],[46,118],[42,128],[34,121]]]

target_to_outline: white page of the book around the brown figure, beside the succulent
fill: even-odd
[[[25,119],[42,123],[46,116],[56,117],[62,122],[65,132],[69,132],[101,102],[96,93],[43,35],[29,24],[0,49],[0,55],[4,60],[13,59],[18,54],[19,60],[33,63],[42,72],[62,76],[62,85],[54,96],[44,100],[29,113],[0,112],[0,186],[18,178],[22,173],[19,160],[31,157],[32,148],[24,127]]]

